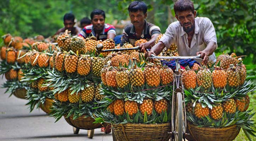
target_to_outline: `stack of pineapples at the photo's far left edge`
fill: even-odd
[[[25,98],[27,83],[21,82],[23,77],[24,59],[20,59],[25,48],[33,43],[33,40],[23,39],[19,36],[12,37],[10,34],[2,36],[5,46],[1,47],[1,68],[0,74],[4,74],[6,82],[3,87],[19,98]]]

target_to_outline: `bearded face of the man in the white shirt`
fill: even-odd
[[[180,25],[185,32],[189,33],[195,29],[196,11],[194,11],[194,13],[190,10],[177,12],[175,17],[180,22]]]

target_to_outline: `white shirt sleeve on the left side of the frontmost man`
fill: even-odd
[[[171,44],[173,42],[173,40],[175,39],[176,36],[176,32],[175,32],[175,28],[173,26],[174,24],[170,24],[168,26],[168,28],[166,29],[165,33],[163,34],[163,37],[159,40],[161,42],[163,42],[163,44],[165,44],[165,47],[168,49],[169,47],[171,47]]]

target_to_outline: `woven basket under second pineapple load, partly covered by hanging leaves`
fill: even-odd
[[[66,118],[66,116],[67,115],[64,116],[66,122],[79,129],[91,130],[105,126],[105,124],[93,123],[95,120],[91,117],[84,118],[85,115],[82,115],[75,120],[73,120],[73,115],[68,118]]]

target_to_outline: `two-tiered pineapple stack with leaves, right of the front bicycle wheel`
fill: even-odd
[[[220,55],[217,62],[208,68],[196,64],[183,72],[186,112],[190,124],[207,127],[236,124],[251,133],[252,124],[248,122],[250,111],[246,110],[250,103],[248,94],[256,86],[251,81],[245,81],[245,65],[241,58],[237,58],[235,54]],[[237,118],[236,121],[234,118]]]

